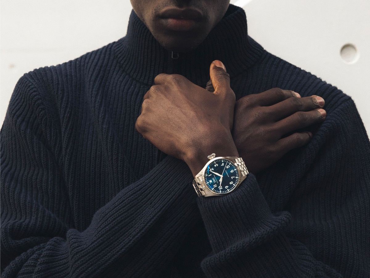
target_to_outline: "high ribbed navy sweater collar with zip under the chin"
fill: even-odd
[[[225,17],[206,39],[196,49],[179,53],[178,59],[173,59],[171,51],[157,42],[134,11],[127,35],[115,42],[114,51],[125,72],[141,83],[152,85],[160,73],[177,73],[205,86],[213,60],[221,60],[233,77],[252,66],[263,48],[248,37],[244,10],[230,4]]]

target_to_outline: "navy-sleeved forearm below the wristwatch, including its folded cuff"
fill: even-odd
[[[213,255],[202,269],[208,277],[341,277],[287,236],[290,214],[273,214],[253,175],[235,192],[198,198]]]

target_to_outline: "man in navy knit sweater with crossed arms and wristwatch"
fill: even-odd
[[[263,50],[228,0],[131,3],[126,37],[14,90],[2,275],[368,276],[370,147],[350,97]],[[209,189],[234,189],[196,197],[212,153],[250,173],[207,168]]]

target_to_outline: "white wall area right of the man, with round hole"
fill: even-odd
[[[369,135],[369,0],[231,1],[235,2],[244,6],[250,36],[266,50],[350,95]],[[341,56],[346,44],[357,49],[353,55],[342,53],[354,63]]]

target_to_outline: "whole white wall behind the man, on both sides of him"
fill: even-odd
[[[266,50],[353,97],[370,130],[369,0],[232,0]],[[17,80],[124,36],[128,0],[1,0],[0,123]],[[345,44],[343,57],[340,50]]]

